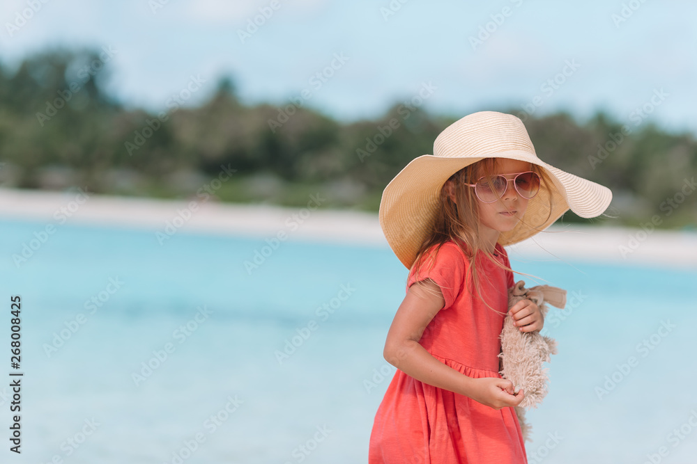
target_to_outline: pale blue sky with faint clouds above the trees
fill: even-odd
[[[4,0],[0,61],[107,47],[109,91],[153,112],[228,76],[245,104],[295,99],[342,121],[411,102],[697,134],[696,14],[687,0]]]

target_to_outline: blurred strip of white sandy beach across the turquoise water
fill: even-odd
[[[270,205],[153,200],[108,195],[0,189],[0,219],[54,224],[173,231],[384,246],[377,214]],[[167,224],[169,223],[169,228]],[[37,227],[43,230],[44,225]],[[697,269],[697,233],[611,227],[553,225],[533,239],[508,247],[512,262],[572,259],[618,264],[654,264]]]

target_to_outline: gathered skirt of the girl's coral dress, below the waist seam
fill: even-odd
[[[496,371],[475,369],[437,355],[434,358],[471,378],[500,378]],[[390,384],[388,388],[395,394],[383,401],[380,409],[395,423],[381,424],[378,410],[370,464],[527,463],[513,408],[484,406],[470,397],[418,381],[399,369]],[[384,426],[397,426],[402,433],[381,433]],[[519,447],[510,447],[511,442]]]

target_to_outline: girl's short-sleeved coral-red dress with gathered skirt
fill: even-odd
[[[466,247],[466,246],[465,246]],[[434,248],[429,250],[433,253]],[[503,246],[501,263],[510,267]],[[418,280],[441,287],[445,306],[431,320],[420,344],[445,365],[469,377],[497,377],[498,338],[503,314],[493,312],[473,291],[468,258],[453,241],[443,243],[436,262],[424,259]],[[508,309],[513,273],[477,257],[477,278],[489,305]],[[406,288],[416,278],[409,274]],[[422,383],[397,369],[375,415],[369,464],[527,463],[523,434],[512,407],[496,410],[462,394]]]

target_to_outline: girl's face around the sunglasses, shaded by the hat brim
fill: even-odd
[[[498,159],[498,172],[490,174],[503,174],[507,179],[513,179],[515,174],[532,170],[531,168],[530,163],[525,161],[500,158]],[[480,173],[479,177],[484,174]],[[494,231],[508,232],[513,230],[519,218],[522,218],[523,214],[525,214],[528,208],[528,201],[518,194],[513,182],[508,182],[508,187],[499,200],[493,203],[484,203],[477,200],[482,227],[484,230],[490,230],[491,233],[494,233]]]

